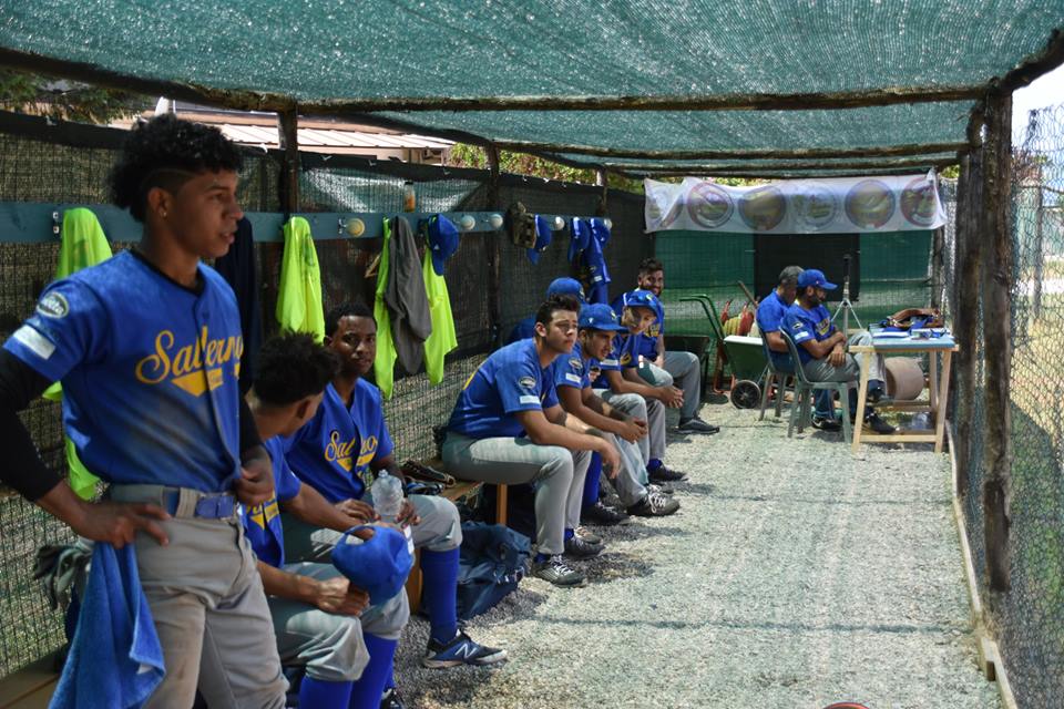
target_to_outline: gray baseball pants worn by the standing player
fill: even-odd
[[[109,496],[161,504],[164,490],[112,485]],[[236,514],[191,517],[200,496],[181,489],[176,514],[157,522],[170,537],[167,546],[143,532],[134,541],[166,667],[144,707],[191,707],[198,686],[212,709],[283,709],[288,681],[244,525]]]

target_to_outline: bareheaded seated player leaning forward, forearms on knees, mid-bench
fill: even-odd
[[[443,462],[466,480],[507,485],[535,483],[536,555],[532,573],[556,586],[584,576],[562,555],[586,558],[601,546],[575,535],[590,453],[607,471],[616,449],[557,403],[552,364],[576,341],[580,302],[551,296],[535,315],[535,337],[495,350],[477,369],[447,424]]]

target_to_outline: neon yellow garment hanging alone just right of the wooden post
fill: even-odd
[[[308,332],[318,342],[325,337],[321,270],[314,237],[310,236],[310,224],[303,217],[291,217],[285,225],[277,322],[283,331]]]

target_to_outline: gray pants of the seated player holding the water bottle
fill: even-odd
[[[374,504],[372,489],[362,500]],[[417,548],[448,552],[462,544],[462,521],[453,502],[436,495],[410,495],[407,500],[421,517],[420,523],[410,527]],[[288,513],[282,513],[282,524],[285,527],[285,558],[329,563],[332,547],[341,536],[339,532],[316,527]]]

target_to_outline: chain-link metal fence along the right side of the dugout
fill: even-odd
[[[955,397],[953,432],[971,421],[966,446],[968,485],[960,491],[969,543],[986,607],[1021,707],[1054,707],[1064,696],[1064,105],[1030,114],[1012,147],[1012,417],[1011,589],[991,592],[986,562],[982,486],[985,377],[982,314],[973,353],[970,407]],[[947,233],[948,307],[956,278],[955,232]],[[962,387],[964,384],[962,383]],[[963,390],[956,392],[963,394]]]

